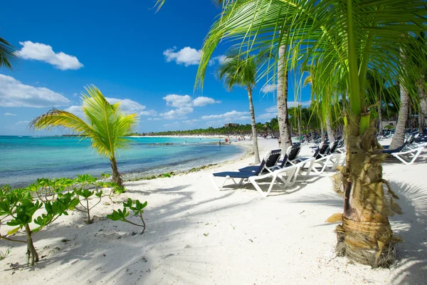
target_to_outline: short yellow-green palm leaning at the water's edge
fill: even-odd
[[[124,135],[130,133],[137,123],[137,115],[127,115],[120,110],[120,103],[110,104],[95,86],[85,88],[82,93],[82,110],[85,120],[72,113],[52,109],[32,120],[33,130],[67,128],[82,138],[90,138],[92,147],[99,155],[109,157],[112,169],[112,182],[123,186],[123,180],[117,170],[117,150],[127,147],[129,140]]]

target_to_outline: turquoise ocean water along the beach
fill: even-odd
[[[120,150],[117,167],[126,178],[188,170],[228,160],[243,153],[233,145],[214,145],[217,139],[130,138]],[[172,143],[173,145],[150,145]],[[99,177],[111,173],[110,160],[90,148],[90,140],[73,137],[0,136],[0,185],[26,186],[40,177]]]

